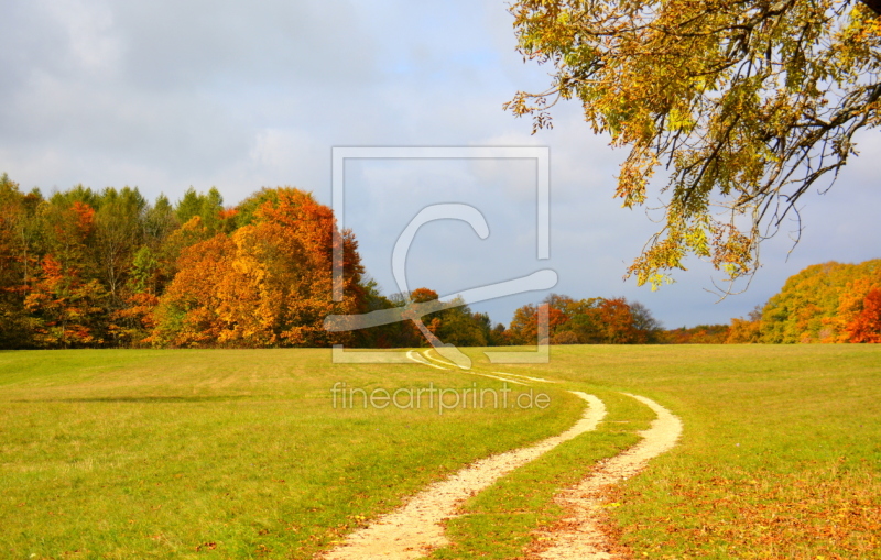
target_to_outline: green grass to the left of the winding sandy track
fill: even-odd
[[[0,557],[311,558],[581,409],[342,409],[337,381],[501,386],[322,350],[0,353]]]

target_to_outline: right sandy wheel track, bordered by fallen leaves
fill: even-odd
[[[553,529],[537,535],[527,558],[543,560],[606,560],[614,558],[611,547],[599,530],[602,488],[633,476],[649,461],[676,444],[682,433],[682,422],[670,410],[654,400],[628,395],[649,406],[657,415],[651,427],[641,432],[640,443],[600,463],[597,470],[577,486],[562,492],[555,498],[569,517]]]

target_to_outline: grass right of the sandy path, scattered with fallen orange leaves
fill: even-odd
[[[609,496],[637,558],[881,558],[881,348],[555,347],[508,371],[682,418],[681,444]]]

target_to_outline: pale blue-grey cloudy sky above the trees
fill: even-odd
[[[4,0],[0,173],[28,190],[128,185],[149,199],[216,186],[228,206],[289,185],[329,206],[334,146],[546,146],[550,259],[536,252],[534,160],[345,164],[344,227],[387,295],[404,289],[392,276],[398,237],[435,204],[477,208],[490,233],[423,226],[407,253],[410,289],[455,295],[555,271],[552,289],[472,303],[504,323],[552,292],[638,300],[667,328],[727,323],[809,264],[881,257],[874,130],[857,138],[861,156],[828,193],[800,201],[798,245],[794,224],[764,243],[744,293],[719,300],[721,275],[695,260],[657,292],[624,281],[656,215],[612,198],[626,153],[591,133],[577,103],[557,106],[553,130],[535,135],[502,110],[550,83],[516,53],[512,21],[494,0]]]

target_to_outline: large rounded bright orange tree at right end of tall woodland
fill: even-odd
[[[336,232],[329,208],[298,189],[280,188],[231,235],[217,233],[181,253],[160,299],[155,344],[327,345],[324,318],[352,314],[363,300],[363,271],[350,231]],[[334,244],[344,254],[342,301],[331,299]]]

